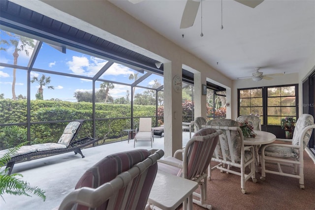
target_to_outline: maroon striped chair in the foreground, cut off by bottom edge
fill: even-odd
[[[144,210],[163,150],[120,152],[88,169],[59,210]]]

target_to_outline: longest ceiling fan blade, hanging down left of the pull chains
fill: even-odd
[[[195,22],[200,1],[187,0],[182,16],[180,29],[187,29]]]

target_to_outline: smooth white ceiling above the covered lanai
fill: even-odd
[[[186,0],[110,0],[230,79],[293,73],[315,62],[315,0],[264,0],[255,8],[234,0],[202,1],[192,27],[180,29]],[[221,30],[221,17],[223,29]]]

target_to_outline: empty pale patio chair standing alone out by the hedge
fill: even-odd
[[[136,128],[136,135],[134,137],[133,147],[135,147],[137,141],[151,142],[152,148],[152,142],[154,142],[154,135],[151,118],[139,119],[139,128]]]

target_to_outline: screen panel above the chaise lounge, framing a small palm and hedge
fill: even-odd
[[[42,93],[37,80],[31,83],[32,121],[92,119],[92,80],[39,72],[32,74],[38,80],[44,76],[45,83],[49,78],[49,83],[42,84]],[[36,100],[40,97],[43,100]]]

